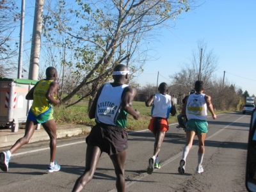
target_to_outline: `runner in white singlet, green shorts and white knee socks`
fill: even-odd
[[[182,115],[186,115],[188,122],[186,124],[186,146],[183,148],[182,159],[180,160],[180,166],[178,172],[184,174],[186,157],[188,156],[189,149],[193,145],[195,135],[198,138],[198,165],[196,167],[196,173],[204,172],[202,161],[204,158],[204,141],[207,133],[207,109],[210,111],[212,118],[216,119],[214,114],[211,97],[205,95],[203,81],[195,82],[196,93],[189,95],[188,99],[182,108]]]

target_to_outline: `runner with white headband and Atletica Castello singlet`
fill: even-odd
[[[125,191],[124,163],[128,148],[128,134],[124,130],[127,113],[138,120],[140,113],[132,108],[136,89],[129,86],[129,70],[125,65],[116,65],[113,71],[113,83],[100,87],[89,118],[95,118],[96,125],[86,138],[86,163],[83,175],[76,180],[72,191],[82,191],[92,180],[102,152],[108,153],[116,173],[116,189]],[[104,191],[104,189],[102,189]]]

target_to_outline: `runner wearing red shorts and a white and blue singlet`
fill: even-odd
[[[154,154],[148,159],[147,173],[152,174],[154,168],[161,168],[159,164],[158,154],[160,152],[161,144],[163,143],[166,131],[169,129],[168,117],[170,113],[172,116],[176,114],[174,99],[168,95],[168,86],[166,83],[159,84],[159,93],[151,95],[145,104],[147,107],[152,105],[151,120],[148,129],[153,132],[155,136]]]

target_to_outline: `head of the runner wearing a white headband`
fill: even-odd
[[[130,72],[125,65],[122,65],[122,64],[116,65],[113,70],[114,82],[119,82],[124,84],[129,83],[129,79],[130,79],[129,74]]]

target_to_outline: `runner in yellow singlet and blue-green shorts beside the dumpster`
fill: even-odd
[[[22,147],[22,145],[29,142],[37,124],[42,124],[50,137],[51,159],[47,172],[58,172],[60,170],[60,165],[54,161],[57,133],[56,124],[52,116],[52,104],[58,105],[60,103],[60,100],[56,99],[59,84],[55,81],[58,74],[54,67],[48,67],[45,74],[46,79],[38,81],[26,95],[26,99],[33,100],[33,104],[29,109],[24,137],[17,140],[10,150],[0,153],[0,168],[3,172],[8,172],[9,161],[12,154]]]

